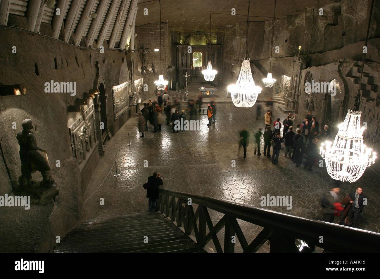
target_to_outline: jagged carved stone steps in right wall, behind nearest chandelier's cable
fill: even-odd
[[[369,67],[364,64],[363,77],[360,85],[360,93],[364,101],[374,103],[374,106],[379,106],[378,100],[378,82],[374,76],[370,76]],[[354,84],[359,84],[359,76],[361,73],[361,61],[356,61],[350,71],[346,74],[346,77],[350,78]]]

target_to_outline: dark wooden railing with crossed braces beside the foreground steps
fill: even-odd
[[[228,224],[229,229],[225,227],[225,233],[227,232],[229,234],[228,238],[234,236],[236,232],[240,243],[243,243],[242,247],[245,252],[257,251],[260,246],[253,244],[262,245],[268,238],[270,232],[280,233],[291,238],[298,238],[309,244],[333,252],[380,251],[379,233],[292,216],[263,208],[240,205],[211,197],[164,189],[159,189],[159,193],[161,213],[165,214],[171,221],[176,221],[178,227],[181,227],[183,223],[187,234],[190,234],[191,230],[194,229],[197,243],[201,246],[204,246],[211,239],[215,244],[215,241],[217,241],[216,233],[222,229],[223,226]],[[169,197],[171,198],[169,199]],[[189,199],[191,199],[190,205],[188,205]],[[182,205],[182,203],[184,203],[184,205]],[[196,213],[193,212],[193,204],[198,205]],[[226,218],[221,220],[222,222],[220,222],[220,224],[218,223],[214,226],[209,218],[207,209],[223,213]],[[253,240],[252,245],[245,245],[244,242],[246,241],[244,235],[237,222],[235,222],[236,219],[241,219],[263,227],[264,230],[256,237],[259,238],[260,236],[260,238]],[[197,221],[199,225],[196,224]],[[213,231],[206,236],[206,224],[210,232],[216,228],[215,232]],[[217,245],[218,243],[215,244],[215,247],[217,247]],[[226,243],[226,241],[225,250],[226,245],[228,246],[227,249],[229,252],[233,251],[233,248],[231,248],[230,244]]]

